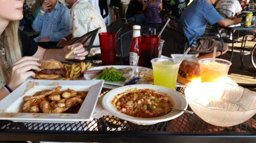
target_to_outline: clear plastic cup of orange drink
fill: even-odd
[[[221,82],[225,83],[227,73],[229,71],[230,61],[225,59],[215,58],[212,62],[212,58],[200,59],[200,74],[202,82]]]

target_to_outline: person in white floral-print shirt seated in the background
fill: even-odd
[[[99,28],[93,46],[99,46],[99,33],[107,32],[102,15],[87,0],[65,0],[71,7],[72,32],[58,42],[57,46],[69,45],[80,36]],[[100,53],[100,48],[91,48],[89,55]]]

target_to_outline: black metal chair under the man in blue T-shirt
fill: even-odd
[[[169,25],[170,28],[172,30],[175,31],[179,31],[179,33],[183,33],[184,34],[184,30],[188,31],[189,34],[191,34],[192,36],[195,37],[195,39],[209,39],[209,38],[214,38],[214,39],[218,39],[219,41],[221,41],[222,44],[222,50],[223,50],[223,41],[221,38],[219,38],[218,36],[195,36],[194,34],[192,34],[188,28],[184,27],[179,20],[176,20],[174,17],[168,17],[170,19]],[[184,34],[185,35],[185,34]],[[176,37],[176,36],[175,36]],[[185,36],[186,37],[186,36]],[[184,38],[184,36],[181,37],[182,39]],[[186,42],[188,41],[188,39],[185,40]],[[191,46],[191,45],[189,45]],[[187,50],[187,48],[189,47],[187,46],[187,43],[182,46],[182,51],[183,53]],[[222,56],[222,50],[221,50],[221,56]],[[196,53],[209,53],[209,52],[213,52],[213,50],[207,50],[207,51],[190,51],[189,54],[196,54]],[[220,56],[220,58],[221,58]]]

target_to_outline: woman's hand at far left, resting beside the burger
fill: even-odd
[[[35,72],[32,70],[40,70],[38,67],[38,58],[32,56],[24,56],[12,65],[12,71],[10,80],[7,83],[8,86],[15,90],[20,84],[22,84],[30,76],[35,77]]]

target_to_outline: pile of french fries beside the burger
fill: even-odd
[[[85,64],[85,62],[81,62],[78,64],[64,64],[64,74],[63,77],[60,80],[73,80],[78,78],[83,74],[84,70],[88,70],[91,67],[92,63],[88,62]]]

